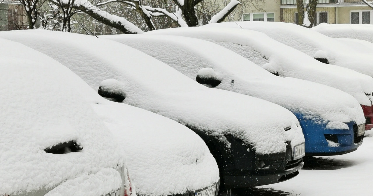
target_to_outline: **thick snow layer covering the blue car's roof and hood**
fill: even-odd
[[[278,77],[241,55],[205,40],[146,34],[103,37],[143,51],[193,80],[197,74],[217,77],[222,80],[216,86],[218,89],[276,103],[316,122],[339,122],[328,123],[331,129],[341,129],[340,124],[347,126],[343,122],[365,122],[363,110],[351,95],[310,81]]]

